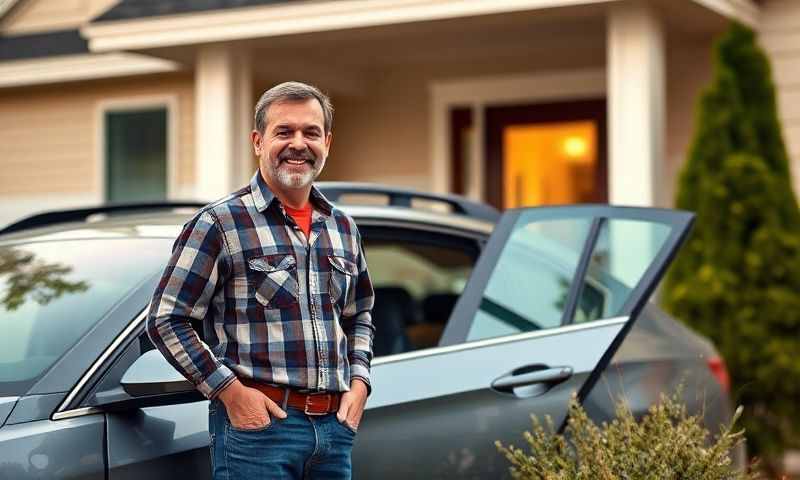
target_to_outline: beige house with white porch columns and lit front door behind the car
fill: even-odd
[[[289,79],[336,107],[322,179],[669,206],[732,19],[771,56],[798,172],[797,0],[0,1],[0,223],[218,198]]]

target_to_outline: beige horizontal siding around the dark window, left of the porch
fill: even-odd
[[[176,187],[194,181],[194,89],[185,74],[0,90],[0,197],[94,194],[101,181],[100,105],[174,96],[177,100]]]

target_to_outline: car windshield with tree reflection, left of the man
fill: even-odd
[[[169,252],[166,239],[0,246],[0,396],[23,394]]]

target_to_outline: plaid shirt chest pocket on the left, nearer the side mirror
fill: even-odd
[[[258,303],[269,308],[297,303],[297,262],[292,254],[273,254],[247,261],[248,279]]]

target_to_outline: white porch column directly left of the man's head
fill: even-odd
[[[220,198],[254,170],[250,56],[227,45],[200,48],[195,70],[195,196]]]

